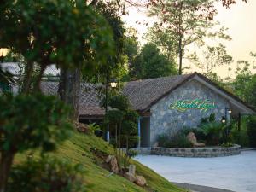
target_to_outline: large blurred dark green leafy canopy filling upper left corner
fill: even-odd
[[[109,54],[113,43],[102,17],[81,1],[8,1],[1,13],[0,41],[28,61],[72,67],[85,56],[90,65],[91,57]]]

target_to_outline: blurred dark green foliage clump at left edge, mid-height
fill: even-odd
[[[68,110],[55,96],[0,96],[1,150],[54,149],[56,138],[64,140],[70,135]]]

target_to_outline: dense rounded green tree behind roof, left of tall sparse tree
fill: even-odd
[[[131,65],[133,79],[159,78],[176,73],[176,63],[161,54],[155,44],[145,44]]]

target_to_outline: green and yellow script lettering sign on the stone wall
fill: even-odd
[[[201,112],[206,112],[208,109],[216,108],[215,102],[210,100],[195,99],[195,100],[177,100],[173,102],[170,109],[177,109],[178,111],[184,112],[188,109],[199,109]]]

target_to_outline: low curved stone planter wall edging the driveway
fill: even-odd
[[[241,146],[234,145],[230,148],[213,147],[213,148],[160,148],[153,147],[150,154],[166,155],[174,157],[221,157],[241,153]]]

